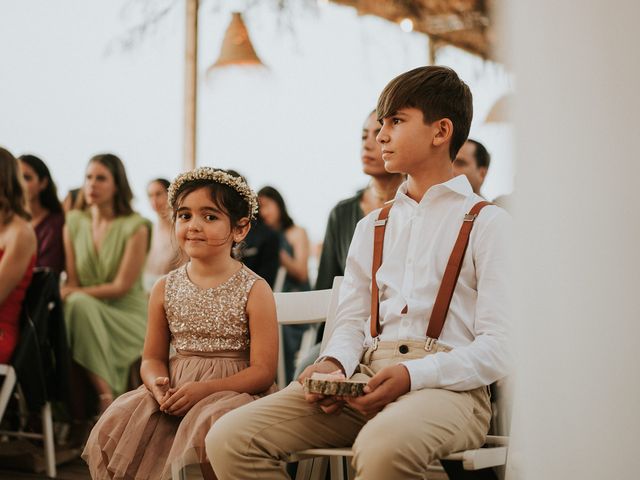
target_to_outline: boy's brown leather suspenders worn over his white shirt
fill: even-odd
[[[451,304],[451,298],[453,292],[458,283],[458,277],[460,276],[460,270],[462,268],[462,260],[464,254],[469,245],[469,236],[471,235],[471,229],[473,228],[473,222],[476,217],[487,205],[491,205],[490,202],[478,202],[476,203],[469,213],[464,216],[462,227],[460,227],[460,233],[458,233],[458,239],[453,246],[451,255],[449,256],[449,262],[445,268],[444,275],[442,277],[442,283],[438,289],[436,295],[436,301],[431,311],[431,318],[429,319],[429,326],[427,327],[427,345],[426,349],[431,350],[431,347],[435,341],[440,337],[442,327],[447,319],[447,312],[449,311],[449,305]],[[380,334],[380,299],[378,291],[378,283],[376,282],[376,273],[382,265],[382,250],[384,246],[384,232],[387,226],[387,220],[389,217],[389,211],[393,203],[385,205],[380,214],[378,220],[374,224],[374,236],[373,236],[373,264],[371,267],[371,337],[377,339]],[[375,342],[376,340],[374,340]]]

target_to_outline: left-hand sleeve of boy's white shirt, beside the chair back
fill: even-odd
[[[353,375],[364,353],[365,328],[371,314],[373,223],[370,216],[356,226],[340,286],[336,326],[322,357],[333,357]]]

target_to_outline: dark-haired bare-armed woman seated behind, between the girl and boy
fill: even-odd
[[[309,286],[309,238],[304,228],[293,223],[280,192],[264,187],[258,192],[260,217],[272,229],[280,233],[280,264],[287,271],[283,292],[303,292]],[[300,349],[305,325],[285,325],[282,329],[286,381],[293,379],[295,357]]]

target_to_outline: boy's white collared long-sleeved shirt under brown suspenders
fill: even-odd
[[[483,200],[464,175],[434,185],[419,203],[398,189],[385,232],[380,290],[380,341],[425,341],[428,319],[464,215]],[[351,241],[336,313],[336,328],[322,357],[340,361],[347,377],[371,345],[373,228],[379,210],[360,220]],[[485,207],[475,221],[444,328],[453,347],[403,362],[411,389],[464,391],[489,385],[510,366],[508,325],[511,219]],[[404,306],[408,312],[402,314]]]

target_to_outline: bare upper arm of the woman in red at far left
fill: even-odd
[[[36,248],[36,235],[26,222],[23,225],[16,222],[10,227],[0,259],[0,304],[24,277]]]

